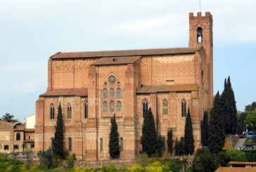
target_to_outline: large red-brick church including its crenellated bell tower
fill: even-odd
[[[143,115],[151,107],[165,138],[184,137],[191,110],[195,149],[200,120],[213,93],[212,15],[189,13],[186,48],[58,52],[48,62],[48,88],[36,102],[35,149],[52,146],[58,104],[63,110],[65,150],[78,158],[109,159],[110,117],[115,114],[121,159],[141,151]],[[167,149],[165,149],[167,150]]]

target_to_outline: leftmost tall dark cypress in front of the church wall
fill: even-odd
[[[57,124],[56,124],[56,131],[54,133],[54,140],[53,140],[53,154],[60,157],[61,159],[65,158],[64,153],[64,135],[63,135],[63,116],[61,105],[58,105],[58,117],[57,117]]]

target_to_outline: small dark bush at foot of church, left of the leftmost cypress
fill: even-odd
[[[46,168],[53,167],[53,151],[51,149],[46,151],[39,151],[38,156],[40,159],[40,166]]]

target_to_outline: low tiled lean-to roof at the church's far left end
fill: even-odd
[[[60,89],[60,90],[49,90],[46,93],[41,94],[40,97],[49,96],[87,96],[87,88],[84,89]]]

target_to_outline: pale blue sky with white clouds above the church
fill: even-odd
[[[231,76],[238,110],[256,101],[256,1],[201,0],[214,20],[214,88]],[[47,60],[58,51],[188,46],[198,0],[1,0],[0,116],[34,114],[46,91]]]

